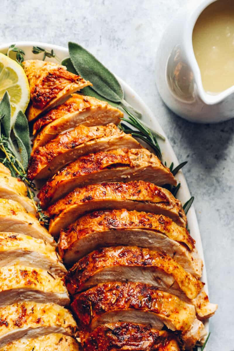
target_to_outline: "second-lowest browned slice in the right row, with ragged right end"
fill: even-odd
[[[80,330],[92,331],[100,324],[132,322],[151,324],[161,330],[181,332],[182,340],[200,340],[206,334],[196,319],[195,308],[177,296],[142,283],[111,282],[96,285],[82,292],[71,304]],[[196,323],[193,335],[187,337]],[[195,344],[195,343],[194,343]]]

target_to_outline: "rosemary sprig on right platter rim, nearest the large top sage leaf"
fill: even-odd
[[[143,123],[138,118],[136,118],[131,112],[129,112],[125,107],[122,107],[122,108],[128,114],[129,118],[128,119],[121,118],[121,120],[130,124],[131,126],[136,128],[136,130],[133,130],[132,128],[128,127],[126,124],[122,122],[120,124],[121,129],[126,134],[131,133],[133,137],[136,137],[145,141],[145,143],[151,146],[154,152],[156,153],[156,155],[161,159],[162,154],[161,154],[158,141],[156,139],[156,135],[152,133],[150,128],[143,125]]]

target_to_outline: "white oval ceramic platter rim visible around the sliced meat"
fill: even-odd
[[[43,48],[46,48],[47,50],[51,51],[51,49],[54,49],[54,52],[56,55],[62,60],[65,57],[68,57],[68,49],[57,46],[57,45],[51,45],[51,44],[46,44],[42,42],[15,42],[15,43],[8,43],[4,45],[0,45],[0,52],[6,53],[8,47],[11,44],[15,44],[17,47],[23,49],[25,51],[25,59],[42,59],[43,54],[33,54],[32,53],[32,47],[33,46],[40,46]],[[48,59],[48,61],[54,61],[53,59]],[[161,139],[158,138],[159,145],[161,147],[162,151],[162,157],[163,160],[167,161],[167,165],[170,165],[172,162],[174,163],[174,166],[177,166],[179,164],[178,159],[173,151],[173,148],[171,144],[169,143],[165,133],[163,132],[161,126],[159,125],[158,121],[156,120],[153,112],[146,106],[146,104],[143,102],[143,100],[130,88],[122,79],[118,78],[120,81],[120,84],[122,85],[122,88],[125,93],[125,100],[129,102],[132,106],[134,106],[137,110],[139,110],[142,113],[143,116],[143,121],[146,122],[148,125],[152,126],[152,128],[156,131],[158,131],[160,134],[164,135],[166,140],[162,141]],[[181,160],[183,161],[183,160]],[[176,175],[176,179],[178,182],[181,183],[180,190],[177,194],[177,197],[181,200],[182,204],[184,204],[188,199],[190,199],[191,195],[188,189],[188,185],[186,183],[185,177],[182,173],[182,171],[179,171],[178,174]],[[196,194],[194,194],[196,195]],[[196,218],[196,213],[194,210],[193,205],[190,207],[190,210],[188,211],[187,214],[188,218],[188,226],[190,229],[190,234],[192,237],[196,240],[196,247],[198,249],[198,252],[203,260],[204,267],[203,267],[203,274],[202,274],[202,281],[206,284],[205,285],[205,290],[208,293],[208,286],[207,286],[207,276],[206,276],[206,266],[204,262],[204,255],[203,255],[203,249],[202,249],[202,243],[201,243],[201,235],[198,227],[198,221]],[[208,321],[205,324],[207,332],[208,332],[208,327],[209,323]]]

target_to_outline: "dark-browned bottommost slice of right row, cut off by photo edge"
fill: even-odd
[[[180,351],[172,333],[125,322],[100,325],[81,338],[81,344],[83,351]]]

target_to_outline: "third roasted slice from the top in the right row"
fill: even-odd
[[[48,179],[82,155],[114,148],[141,148],[141,145],[112,123],[95,127],[80,125],[32,152],[28,178]]]

